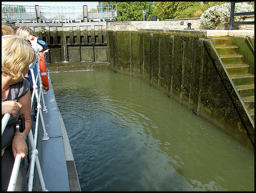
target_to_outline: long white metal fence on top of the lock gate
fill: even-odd
[[[86,11],[84,10],[86,7]],[[115,20],[117,6],[98,5],[80,7],[2,5],[2,22],[18,23],[72,23]],[[38,11],[38,12],[37,12]],[[37,19],[39,15],[39,21]],[[84,20],[86,18],[86,20]]]

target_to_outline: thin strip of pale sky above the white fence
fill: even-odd
[[[2,5],[23,5],[23,6],[34,6],[34,5],[39,5],[39,6],[51,6],[51,7],[75,7],[75,6],[83,6],[83,5],[88,5],[88,6],[97,6],[98,2],[2,2]]]

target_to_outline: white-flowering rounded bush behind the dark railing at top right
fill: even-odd
[[[201,23],[207,29],[215,29],[217,23],[229,24],[231,4],[226,3],[217,5],[207,9],[200,18]],[[247,3],[236,3],[234,12],[249,12],[254,11],[254,7]],[[246,18],[246,15],[235,16],[234,22],[242,22]]]

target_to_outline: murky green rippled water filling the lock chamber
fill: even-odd
[[[50,77],[82,191],[254,191],[254,152],[140,78]]]

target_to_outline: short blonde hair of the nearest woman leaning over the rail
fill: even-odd
[[[36,59],[34,49],[19,36],[2,36],[2,73],[24,78],[27,67]]]

